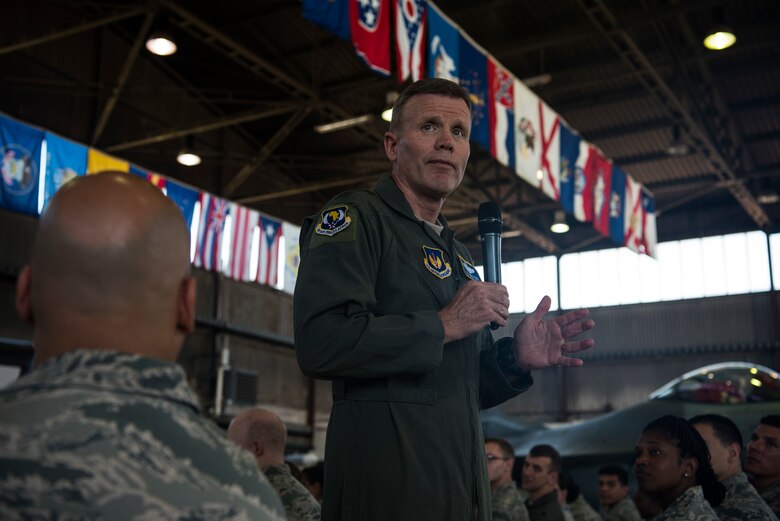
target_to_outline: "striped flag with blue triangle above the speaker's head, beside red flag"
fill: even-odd
[[[417,81],[425,74],[425,2],[396,0],[395,51],[398,81]]]

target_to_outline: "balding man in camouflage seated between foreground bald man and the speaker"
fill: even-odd
[[[282,498],[289,521],[319,521],[320,504],[284,463],[287,429],[276,414],[264,409],[243,412],[230,422],[228,438],[252,453]]]

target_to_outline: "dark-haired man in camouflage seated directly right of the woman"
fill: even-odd
[[[689,420],[707,442],[712,469],[726,487],[726,498],[715,509],[721,521],[777,521],[777,516],[748,483],[742,472],[742,434],[733,421],[718,414]]]

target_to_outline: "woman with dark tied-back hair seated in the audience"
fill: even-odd
[[[662,416],[642,431],[634,451],[639,489],[663,511],[654,521],[717,521],[712,507],[726,490],[710,465],[707,444],[687,421]]]

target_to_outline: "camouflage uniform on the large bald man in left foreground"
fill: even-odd
[[[1,519],[284,519],[176,364],[72,351],[0,391]]]

